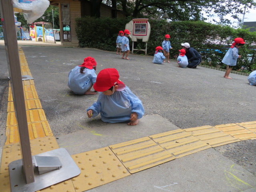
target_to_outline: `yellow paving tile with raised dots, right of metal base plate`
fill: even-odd
[[[80,175],[72,178],[76,192],[89,190],[130,175],[108,147],[71,157],[81,170]]]

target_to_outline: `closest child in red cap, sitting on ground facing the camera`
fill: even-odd
[[[93,85],[99,91],[98,100],[87,109],[89,118],[99,113],[101,120],[108,123],[128,122],[137,125],[144,115],[144,108],[140,99],[120,81],[115,68],[101,70]]]

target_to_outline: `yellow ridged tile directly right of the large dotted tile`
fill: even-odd
[[[110,146],[130,173],[171,161],[175,157],[149,137]]]

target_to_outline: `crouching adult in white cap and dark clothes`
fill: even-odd
[[[193,47],[190,47],[189,43],[182,43],[182,48],[186,51],[186,56],[188,58],[188,68],[196,68],[201,62],[201,55]]]

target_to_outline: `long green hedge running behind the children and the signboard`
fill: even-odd
[[[76,34],[80,47],[98,48],[101,50],[116,51],[116,38],[120,30],[125,29],[126,23],[131,18],[112,19],[112,18],[92,18],[83,17],[76,19]],[[168,22],[167,20],[152,20],[148,22],[151,26],[150,38],[148,40],[147,53],[153,55],[156,46],[161,46],[165,34],[170,34],[170,42],[173,47],[170,50],[170,57],[175,58],[178,50],[181,49],[181,43],[188,42],[202,56],[204,64],[212,66],[220,65],[222,58],[232,44],[234,38],[241,37],[246,41],[245,46],[240,48],[239,54],[242,59],[234,69],[241,66],[247,66],[248,70],[256,69],[256,59],[250,62],[247,59],[248,54],[253,54],[256,48],[256,32],[249,32],[248,29],[234,29],[230,26],[210,24],[202,21],[181,21]],[[226,46],[224,46],[226,45]],[[130,40],[130,47],[132,42]],[[145,42],[138,40],[134,42],[135,49],[145,49]],[[142,51],[137,54],[145,54]]]

